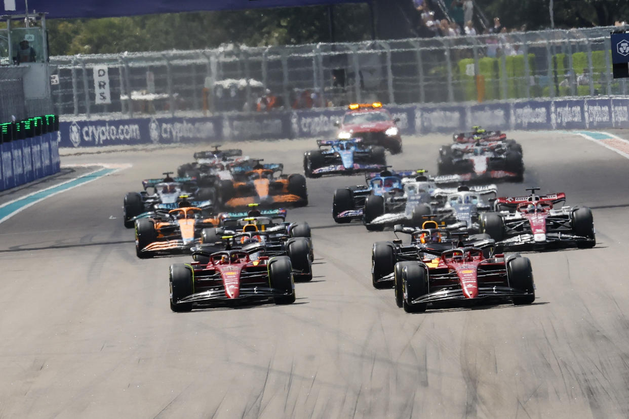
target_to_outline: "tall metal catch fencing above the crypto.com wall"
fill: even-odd
[[[52,97],[60,115],[133,117],[252,111],[266,89],[284,109],[626,95],[618,29],[52,57]]]

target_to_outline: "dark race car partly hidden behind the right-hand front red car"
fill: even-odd
[[[489,258],[494,254],[496,242],[487,234],[469,236],[457,227],[442,227],[434,219],[423,222],[420,228],[394,227],[396,240],[374,243],[371,253],[371,275],[374,288],[391,288],[394,280],[394,266],[398,262],[422,261],[425,253],[441,253],[455,247],[472,246],[483,249]],[[403,242],[398,233],[408,234],[410,241]]]

